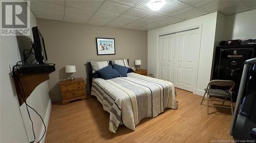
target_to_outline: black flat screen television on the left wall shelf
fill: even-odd
[[[33,49],[35,53],[35,60],[37,64],[45,64],[45,61],[47,61],[47,54],[44,38],[38,31],[37,26],[32,27],[32,33],[34,38]]]

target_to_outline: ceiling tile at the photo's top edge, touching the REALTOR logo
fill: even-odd
[[[56,15],[64,14],[64,6],[48,3],[45,1],[30,1],[30,4],[32,11],[51,13]]]

